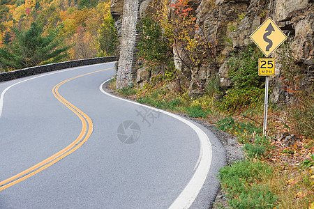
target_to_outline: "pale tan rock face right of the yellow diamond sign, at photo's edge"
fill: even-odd
[[[305,83],[311,85],[314,81],[314,8],[313,1],[276,1],[274,19],[278,26],[286,33],[290,33],[292,39],[290,47],[294,59],[302,66]],[[280,49],[278,49],[280,50]],[[280,57],[276,55],[276,76],[271,78],[271,85],[274,87],[271,93],[271,102],[287,102],[291,95],[283,91]]]

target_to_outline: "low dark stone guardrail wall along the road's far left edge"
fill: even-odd
[[[18,79],[21,77],[27,77],[30,75],[38,75],[44,72],[51,72],[54,70],[62,70],[66,68],[75,68],[84,65],[94,65],[99,63],[108,63],[112,61],[117,61],[117,56],[106,56],[91,59],[80,59],[75,61],[66,61],[62,63],[52,63],[48,65],[39,65],[31,68],[24,68],[21,70],[14,70],[10,72],[0,73],[0,82],[6,82],[13,79]]]

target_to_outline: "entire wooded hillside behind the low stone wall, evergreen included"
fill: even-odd
[[[0,71],[117,54],[110,0],[1,0]]]

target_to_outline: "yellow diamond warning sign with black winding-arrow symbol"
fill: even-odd
[[[279,29],[271,17],[261,24],[258,29],[251,34],[250,38],[255,42],[266,57],[269,57],[285,40],[287,36]]]

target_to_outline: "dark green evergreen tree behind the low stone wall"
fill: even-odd
[[[47,36],[43,36],[43,25],[36,22],[26,31],[13,28],[10,45],[0,48],[0,63],[8,68],[29,68],[31,66],[55,63],[67,56],[70,46],[59,47],[61,40],[57,35],[62,26]]]

